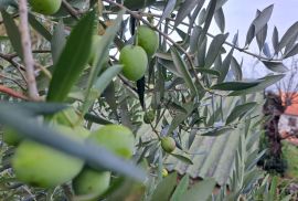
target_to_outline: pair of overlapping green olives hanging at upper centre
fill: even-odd
[[[138,45],[126,45],[120,51],[119,62],[124,65],[123,74],[129,81],[140,80],[147,70],[148,57],[151,57],[159,45],[155,31],[146,25],[138,28]]]

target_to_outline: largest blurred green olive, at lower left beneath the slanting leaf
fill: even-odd
[[[17,178],[42,188],[53,188],[71,181],[83,166],[81,159],[30,140],[22,141],[12,158]]]

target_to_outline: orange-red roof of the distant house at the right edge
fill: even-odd
[[[298,92],[281,93],[281,99],[284,105],[288,105],[285,114],[298,116]]]

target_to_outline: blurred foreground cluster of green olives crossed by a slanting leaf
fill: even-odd
[[[54,128],[61,134],[75,140],[92,141],[105,147],[115,155],[129,159],[132,156],[135,136],[131,130],[121,125],[107,125],[98,130],[89,131],[77,123],[74,110],[66,109],[54,116]],[[63,119],[63,117],[65,119]],[[70,156],[52,147],[23,139],[12,129],[4,130],[4,141],[15,145],[17,149],[11,165],[19,181],[32,187],[54,188],[72,181],[76,195],[88,195],[88,200],[96,200],[109,188],[109,171],[98,171],[85,165],[84,160]]]

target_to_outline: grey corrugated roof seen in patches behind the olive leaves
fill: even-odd
[[[238,99],[238,97],[225,97],[223,105],[228,107],[220,107],[223,114],[231,114],[231,110],[234,108],[233,106],[240,104]],[[252,95],[247,100],[263,103],[263,96],[260,94]],[[262,112],[262,105],[259,104],[254,114],[251,115],[255,116],[255,113],[259,114]],[[163,166],[169,171],[189,174],[192,179],[214,178],[219,186],[230,183],[230,178],[233,176],[235,168],[235,156],[243,157],[242,160],[245,161],[244,156],[251,156],[254,152],[255,158],[257,158],[255,150],[258,148],[258,135],[260,134],[258,130],[255,130],[259,126],[256,124],[257,121],[259,121],[258,118],[251,119],[251,124],[244,124],[243,121],[233,130],[213,137],[202,136],[201,134],[205,133],[205,130],[194,130],[192,133],[181,129],[181,146],[187,152],[175,149],[173,152],[175,156],[167,155]],[[246,126],[249,129],[246,130]],[[155,137],[148,125],[143,125],[138,130],[138,136],[142,138],[142,141],[151,139],[152,136]],[[177,156],[187,157],[191,159],[192,163],[185,160],[185,158]]]

